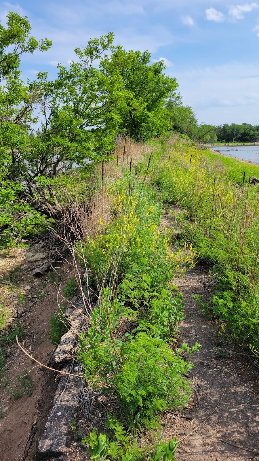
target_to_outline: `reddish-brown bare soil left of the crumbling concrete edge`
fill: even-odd
[[[45,245],[45,243],[43,243]],[[30,349],[32,355],[43,364],[50,364],[54,346],[48,338],[50,318],[57,310],[57,288],[48,274],[37,278],[32,276],[33,267],[41,261],[28,262],[27,252],[36,254],[42,249],[42,242],[32,241],[29,248],[14,248],[1,252],[0,276],[1,302],[7,313],[6,331],[12,331],[15,322],[24,325],[25,336],[20,343]],[[28,266],[25,267],[24,266]],[[69,264],[57,264],[62,275],[62,284],[71,277]],[[6,279],[11,277],[11,283]],[[13,281],[15,280],[15,282]],[[61,286],[62,286],[61,284]],[[28,289],[30,287],[30,289]],[[24,295],[25,302],[18,304],[18,296]],[[61,291],[62,295],[62,291]],[[41,301],[40,299],[43,298]],[[3,330],[0,331],[0,335]],[[16,343],[7,344],[6,369],[0,381],[0,460],[33,461],[36,445],[40,440],[56,389],[57,373],[32,363]],[[36,365],[36,366],[35,366]],[[51,365],[50,365],[51,366]],[[35,388],[31,396],[13,398],[13,390],[19,389],[18,375],[30,371]]]

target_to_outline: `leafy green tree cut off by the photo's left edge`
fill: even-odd
[[[10,226],[21,231],[21,215],[26,216],[28,205],[19,201],[22,184],[13,180],[12,164],[16,150],[27,147],[28,128],[37,96],[29,93],[20,80],[19,63],[24,53],[46,51],[51,41],[38,42],[29,35],[28,19],[9,12],[6,28],[0,24],[0,231]],[[18,161],[20,162],[20,158]],[[26,218],[27,219],[27,216]],[[17,224],[19,221],[19,224]],[[28,223],[27,223],[28,224]]]

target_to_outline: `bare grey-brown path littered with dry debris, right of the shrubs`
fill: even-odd
[[[162,224],[175,225],[167,216]],[[180,417],[167,417],[165,436],[182,440],[176,461],[253,459],[259,456],[259,367],[249,352],[224,337],[216,319],[200,312],[194,296],[202,296],[203,301],[212,296],[209,270],[207,264],[198,263],[174,281],[185,303],[178,343],[197,341],[202,348],[192,355],[193,396]]]

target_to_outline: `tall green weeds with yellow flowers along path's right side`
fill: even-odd
[[[170,155],[170,160],[169,160]],[[191,159],[191,161],[190,161]],[[243,182],[243,174],[240,175]],[[248,178],[247,178],[248,179]],[[210,308],[242,344],[259,349],[259,195],[233,184],[217,159],[193,146],[168,148],[153,182],[165,201],[177,204],[182,237],[215,264],[219,290]]]

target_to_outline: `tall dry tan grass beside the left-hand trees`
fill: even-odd
[[[75,171],[72,175],[59,176],[59,183],[52,192],[59,221],[60,216],[62,221],[59,236],[66,244],[75,240],[87,243],[104,231],[111,219],[114,201],[110,192],[112,183],[120,179],[126,169],[130,169],[130,161],[133,179],[137,165],[154,149],[153,146],[133,142],[128,136],[117,136],[115,160],[92,165],[89,175],[84,173],[80,176]]]

